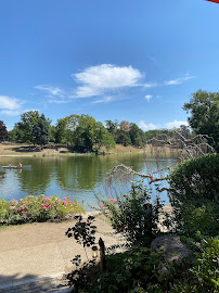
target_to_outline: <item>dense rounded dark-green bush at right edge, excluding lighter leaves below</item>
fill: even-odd
[[[219,154],[208,154],[178,164],[170,174],[170,201],[180,206],[193,202],[218,203],[219,194]]]

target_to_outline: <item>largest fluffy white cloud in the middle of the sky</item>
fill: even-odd
[[[140,86],[143,75],[132,66],[102,64],[88,67],[81,73],[73,74],[72,77],[81,84],[76,89],[76,97],[87,98],[101,95],[110,90]]]

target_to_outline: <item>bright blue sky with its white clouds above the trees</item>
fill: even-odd
[[[0,119],[185,124],[193,92],[219,91],[218,31],[205,0],[1,0]]]

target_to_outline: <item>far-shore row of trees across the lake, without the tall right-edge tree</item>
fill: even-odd
[[[7,131],[1,122],[2,138],[16,143],[29,143],[34,145],[46,145],[48,143],[62,143],[72,145],[79,152],[99,152],[101,146],[106,150],[115,146],[115,143],[143,148],[150,139],[158,138],[160,135],[167,137],[176,136],[175,130],[159,129],[143,131],[134,123],[127,120],[106,120],[105,126],[89,115],[69,115],[51,125],[51,120],[39,114],[38,111],[29,111],[21,115],[21,120],[14,125],[11,131]],[[190,130],[181,126],[179,131]]]

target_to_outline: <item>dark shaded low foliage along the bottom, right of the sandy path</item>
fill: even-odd
[[[124,253],[106,255],[103,273],[93,262],[76,271],[67,277],[69,285],[74,285],[75,292],[79,293],[167,293],[173,280],[186,276],[186,266],[166,264],[162,251],[155,253],[134,245]]]

